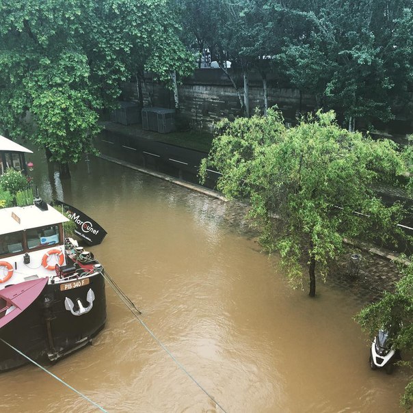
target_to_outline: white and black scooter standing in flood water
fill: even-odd
[[[369,360],[371,369],[384,368],[387,374],[391,374],[395,367],[394,363],[400,359],[400,351],[391,345],[389,331],[379,330],[371,343]]]

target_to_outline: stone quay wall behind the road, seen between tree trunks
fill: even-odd
[[[144,106],[150,106],[148,89],[153,96],[153,106],[174,108],[173,93],[163,85],[146,78],[146,87],[142,83]],[[237,77],[237,86],[243,93],[243,81]],[[264,92],[261,76],[250,73],[250,112],[258,107],[263,112]],[[124,83],[123,96],[125,101],[139,102],[137,84]],[[178,85],[181,114],[193,129],[212,133],[219,120],[228,118],[234,120],[241,115],[241,104],[237,92],[225,73],[219,68],[197,69],[194,75],[183,80]],[[269,107],[278,105],[284,114],[286,122],[293,122],[299,111],[310,111],[315,107],[315,98],[302,94],[299,90],[277,87],[276,79],[267,79],[267,96]]]

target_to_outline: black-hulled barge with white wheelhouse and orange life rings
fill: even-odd
[[[103,267],[49,204],[0,209],[0,338],[34,360],[59,360],[105,325]],[[0,341],[0,371],[27,359]]]

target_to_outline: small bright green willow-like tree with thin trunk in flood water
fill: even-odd
[[[328,263],[343,252],[344,238],[395,243],[401,204],[386,206],[375,196],[377,182],[397,184],[404,157],[388,140],[350,133],[334,112],[284,126],[281,114],[225,120],[219,124],[206,168],[222,173],[217,188],[226,196],[249,198],[249,216],[269,252],[278,251],[291,282],[302,282],[307,263],[310,296],[315,296],[316,265],[325,276]]]

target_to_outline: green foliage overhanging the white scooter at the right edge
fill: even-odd
[[[356,319],[371,336],[386,325],[397,325],[392,345],[399,350],[413,350],[413,263],[401,270],[403,275],[395,286],[395,292],[385,292],[379,301],[364,307]],[[411,363],[410,363],[411,366]],[[413,379],[405,387],[401,405],[413,406]]]

